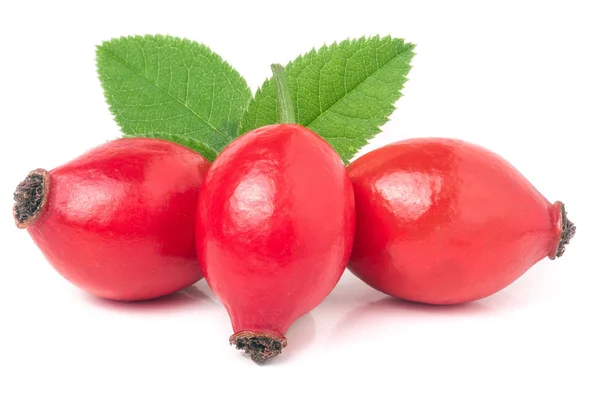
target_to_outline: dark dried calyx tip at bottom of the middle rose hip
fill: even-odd
[[[287,340],[267,333],[246,331],[231,336],[229,343],[238,350],[244,350],[255,363],[264,364],[267,360],[281,354],[287,345]]]

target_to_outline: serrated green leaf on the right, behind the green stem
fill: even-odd
[[[285,67],[296,121],[325,138],[347,163],[394,111],[414,45],[389,36],[314,49]],[[240,132],[278,122],[273,78],[256,92]]]

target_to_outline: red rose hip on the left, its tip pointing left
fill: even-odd
[[[159,139],[118,139],[15,192],[14,216],[50,264],[96,296],[144,300],[202,278],[198,192],[210,163]]]

